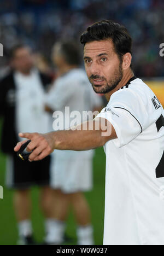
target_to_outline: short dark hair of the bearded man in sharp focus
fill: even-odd
[[[122,56],[126,53],[132,55],[132,38],[126,27],[111,20],[98,21],[87,28],[81,34],[80,42],[85,46],[92,41],[106,40],[111,38],[114,44],[115,53],[122,62]]]

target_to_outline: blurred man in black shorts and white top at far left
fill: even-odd
[[[15,190],[14,209],[19,230],[17,243],[32,245],[35,241],[30,189],[33,185],[40,187],[40,208],[48,226],[46,223],[51,210],[50,156],[40,162],[24,162],[13,154],[13,147],[19,141],[19,131],[49,131],[49,115],[44,111],[43,100],[51,79],[34,66],[33,54],[28,46],[15,45],[10,55],[11,71],[0,83],[0,114],[4,118],[1,147],[7,154],[6,184]]]

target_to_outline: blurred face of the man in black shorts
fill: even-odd
[[[12,65],[14,69],[22,73],[29,73],[34,65],[31,50],[28,48],[20,48],[15,51]]]

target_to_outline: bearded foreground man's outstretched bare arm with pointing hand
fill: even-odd
[[[51,154],[54,149],[60,150],[88,150],[103,146],[110,139],[116,138],[112,124],[104,118],[87,121],[69,131],[56,131],[45,134],[19,133],[22,138],[30,139],[27,146],[30,161],[38,161]],[[17,152],[25,142],[17,143],[14,150]]]

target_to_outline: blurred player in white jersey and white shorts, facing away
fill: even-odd
[[[74,42],[56,43],[52,59],[59,77],[45,97],[46,110],[60,110],[65,120],[61,129],[67,129],[69,121],[74,118],[70,118],[65,107],[69,107],[70,113],[76,110],[82,115],[83,111],[102,109],[102,100],[92,91],[85,71],[79,68],[81,58]],[[57,130],[57,127],[53,128]],[[50,185],[54,189],[56,203],[51,232],[45,237],[45,243],[55,245],[63,242],[69,206],[72,206],[78,225],[78,245],[93,245],[90,207],[83,194],[92,189],[92,157],[93,150],[55,150],[52,153]]]

